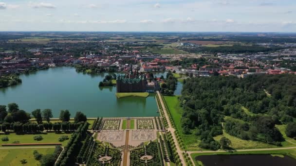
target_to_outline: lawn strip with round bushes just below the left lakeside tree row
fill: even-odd
[[[43,139],[41,141],[35,141],[33,139],[36,135],[42,135]],[[19,141],[20,144],[29,144],[29,143],[62,143],[63,146],[67,145],[69,140],[59,142],[58,138],[62,135],[68,135],[71,137],[71,133],[40,133],[40,134],[24,134],[19,135],[16,133],[9,134],[0,134],[0,138],[7,136],[9,141],[2,141],[0,139],[0,144],[12,144],[14,141]]]

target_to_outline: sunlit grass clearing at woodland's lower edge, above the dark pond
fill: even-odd
[[[277,146],[266,144],[258,141],[252,140],[242,140],[238,137],[231,136],[228,133],[225,133],[225,137],[228,138],[232,143],[232,148],[234,149],[252,149],[252,148],[276,148]],[[216,141],[220,141],[222,135],[215,136]]]

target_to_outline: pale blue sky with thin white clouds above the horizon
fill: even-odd
[[[296,0],[0,0],[0,31],[296,32]]]

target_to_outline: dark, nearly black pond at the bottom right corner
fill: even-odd
[[[203,155],[197,156],[204,166],[296,166],[296,160],[271,155]]]

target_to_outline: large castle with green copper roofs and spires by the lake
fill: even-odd
[[[117,93],[127,92],[155,92],[160,90],[160,85],[155,80],[148,82],[146,74],[133,72],[130,66],[129,74],[118,75],[116,78]]]

